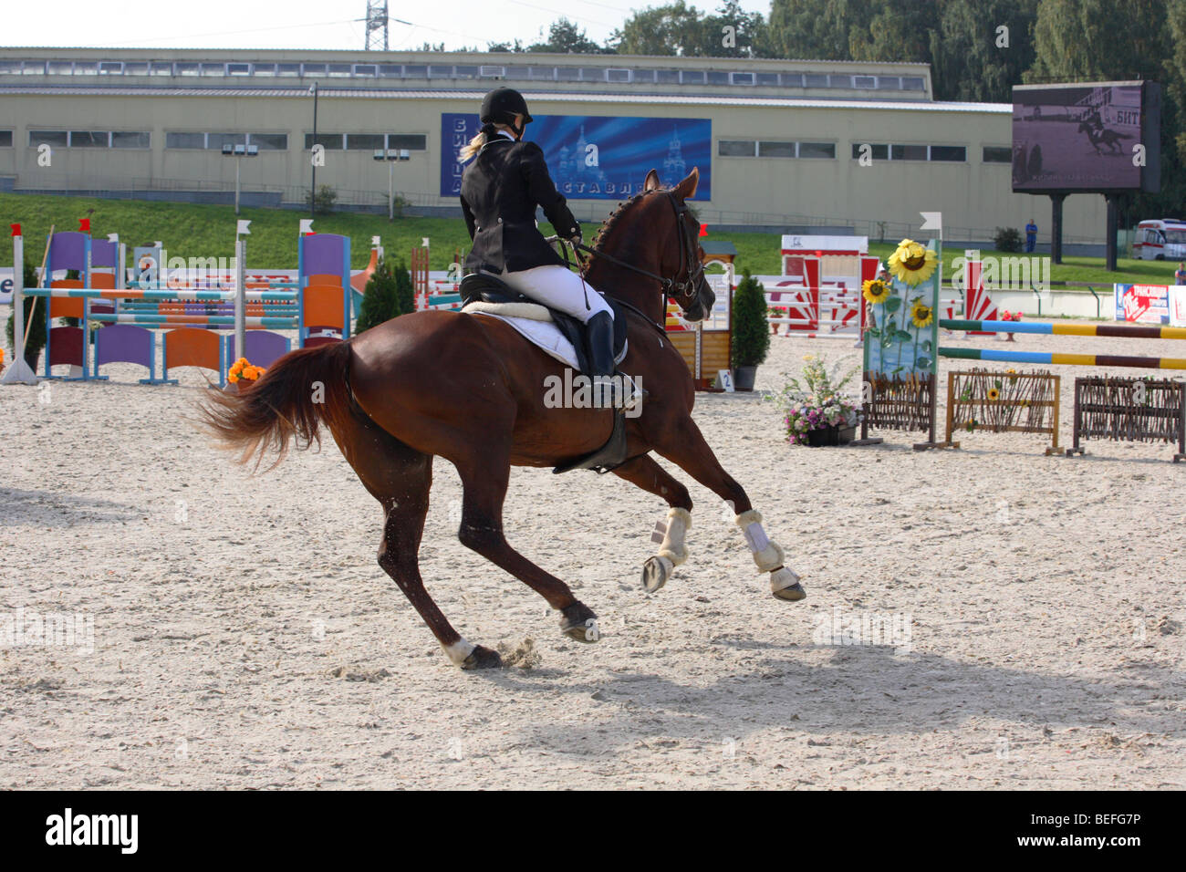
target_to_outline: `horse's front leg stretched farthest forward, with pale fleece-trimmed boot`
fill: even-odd
[[[656,448],[733,507],[737,513],[734,520],[750,546],[753,561],[759,572],[770,573],[770,590],[776,597],[796,602],[808,596],[799,584],[799,577],[786,567],[783,549],[767,539],[761,527],[761,515],[751,505],[745,489],[725,471],[690,416],[667,431],[663,444]]]

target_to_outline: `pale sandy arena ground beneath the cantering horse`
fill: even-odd
[[[848,342],[778,338],[759,387],[809,352],[859,362]],[[331,439],[250,477],[185,420],[196,370],[190,387],[107,370],[119,381],[0,388],[0,632],[21,607],[94,620],[91,651],[0,650],[0,788],[1186,788],[1172,446],[793,448],[771,403],[701,395],[696,420],[808,599],[770,596],[683,471],[690,559],[648,597],[664,505],[614,476],[516,470],[508,537],[598,612],[595,645],[458,542],[438,460],[428,590],[519,662],[463,673],[377,566],[378,504]],[[1069,445],[1073,378],[1104,373],[1051,370]],[[908,622],[908,644],[821,642],[823,620],[868,615]]]

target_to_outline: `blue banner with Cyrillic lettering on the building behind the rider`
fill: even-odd
[[[461,191],[458,152],[480,127],[477,115],[441,114],[441,197]],[[543,148],[551,178],[568,199],[624,199],[643,190],[650,170],[674,185],[700,167],[695,199],[713,190],[709,119],[536,115],[525,138]]]

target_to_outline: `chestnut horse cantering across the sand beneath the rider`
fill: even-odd
[[[766,537],[761,515],[693,420],[691,374],[661,326],[668,295],[689,320],[702,320],[715,301],[704,279],[700,222],[686,203],[699,177],[693,168],[669,189],[651,170],[643,190],[602,222],[592,248],[582,247],[591,253],[585,262],[589,285],[624,304],[629,354],[620,369],[646,390],[640,414],[625,416],[627,459],[612,472],[668,504],[665,523],[659,524],[663,541],[643,565],[646,591],[662,587],[687,560],[684,536],[693,508],[688,489],[650,456],[655,451],[732,504],[759,573],[770,573],[772,593],[796,602],[806,596],[799,578],[784,566],[783,549]],[[273,466],[279,464],[291,440],[298,448],[319,445],[319,427],[325,425],[383,509],[380,566],[455,666],[497,668],[497,651],[453,629],[420,575],[433,459],[448,460],[460,476],[461,543],[542,596],[560,612],[566,636],[597,642],[597,615],[503,534],[511,467],[555,466],[585,457],[606,443],[614,415],[621,414],[613,408],[546,406],[542,386],[563,369],[499,319],[415,312],[346,342],[291,351],[253,387],[215,393],[202,412],[213,434],[241,451],[241,463],[256,458],[256,469],[272,453]]]

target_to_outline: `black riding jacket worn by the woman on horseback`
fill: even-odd
[[[473,240],[470,272],[519,272],[563,265],[535,223],[536,205],[556,233],[570,237],[580,224],[556,190],[535,142],[495,135],[461,176],[461,211]]]

